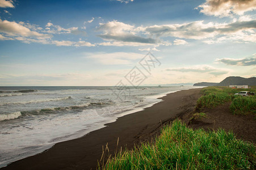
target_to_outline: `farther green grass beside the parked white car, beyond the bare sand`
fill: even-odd
[[[201,90],[202,96],[196,101],[196,109],[214,108],[226,102],[232,102],[230,110],[234,114],[255,114],[255,96],[236,96],[240,91],[256,91],[251,89],[229,88],[229,87],[206,87]]]

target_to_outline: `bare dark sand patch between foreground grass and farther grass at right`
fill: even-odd
[[[207,118],[199,121],[190,121],[191,113],[183,114],[180,118],[185,121],[191,128],[217,129],[223,128],[225,131],[232,130],[238,139],[249,141],[256,144],[256,120],[255,116],[249,115],[234,115],[230,112],[230,102],[224,103],[216,108],[203,109]]]

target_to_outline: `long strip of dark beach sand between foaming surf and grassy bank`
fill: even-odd
[[[144,111],[120,117],[106,124],[105,128],[82,138],[57,143],[41,154],[18,160],[1,169],[95,169],[102,155],[102,146],[106,143],[110,154],[114,154],[117,138],[118,148],[132,148],[134,144],[151,141],[160,134],[165,122],[191,112],[199,97],[200,88],[167,94],[161,97],[163,101]]]

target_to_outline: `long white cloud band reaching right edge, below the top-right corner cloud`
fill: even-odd
[[[144,31],[155,36],[173,36],[184,39],[202,40],[217,35],[230,35],[241,31],[252,32],[256,28],[256,20],[236,21],[233,23],[207,23],[203,21],[184,23],[184,24],[169,24],[169,25],[152,25],[145,27]]]

